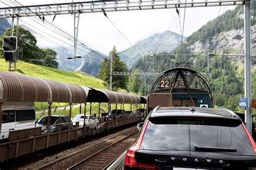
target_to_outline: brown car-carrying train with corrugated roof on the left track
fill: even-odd
[[[144,97],[143,97],[144,98]],[[0,143],[0,161],[16,158],[19,155],[26,153],[33,153],[37,150],[42,150],[50,146],[58,145],[68,142],[70,140],[76,140],[80,137],[88,136],[95,132],[86,126],[85,122],[83,126],[76,125],[73,127],[71,123],[72,107],[69,109],[69,126],[68,130],[62,130],[61,124],[57,124],[57,132],[50,133],[51,122],[51,104],[53,102],[69,103],[70,106],[74,103],[85,104],[86,103],[108,103],[109,109],[112,107],[117,109],[117,104],[121,104],[124,108],[125,103],[131,104],[130,109],[133,110],[140,107],[141,97],[137,95],[129,95],[124,93],[118,93],[109,90],[100,90],[77,86],[75,84],[61,83],[46,79],[39,79],[36,77],[26,76],[22,74],[9,73],[0,71],[0,132],[1,138],[3,137],[2,127],[5,124],[6,117],[3,117],[5,112],[3,108],[9,103],[30,103],[33,108],[33,102],[48,102],[48,125],[46,133],[41,132],[41,127],[25,128],[25,129],[11,129],[8,130],[8,141]],[[145,98],[142,100],[145,103]],[[14,109],[15,110],[15,109]],[[32,109],[30,109],[32,110]],[[35,109],[33,109],[35,112]],[[99,104],[100,111],[100,104]],[[90,108],[91,112],[91,108]],[[79,114],[86,114],[86,107],[84,110],[80,109]],[[16,115],[17,116],[17,115]],[[24,112],[25,116],[25,112]],[[24,116],[19,115],[20,118]],[[100,116],[100,112],[99,115]],[[3,120],[4,118],[4,120]],[[16,121],[16,117],[12,117]],[[35,114],[33,119],[35,120]],[[104,120],[104,117],[100,118]],[[97,132],[103,130],[109,130],[129,123],[139,122],[141,118],[139,116],[124,115],[118,119],[107,119],[107,122],[100,122],[100,128]]]

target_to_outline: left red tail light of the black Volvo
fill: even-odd
[[[144,168],[144,169],[158,169],[160,166],[158,165],[149,165],[149,164],[142,164],[135,160],[135,152],[139,150],[140,145],[142,144],[142,139],[144,137],[144,133],[147,128],[147,124],[149,123],[149,119],[145,122],[145,125],[142,129],[142,132],[140,133],[140,136],[136,143],[134,143],[126,152],[126,158],[125,158],[125,165],[130,167],[136,167],[136,168]]]

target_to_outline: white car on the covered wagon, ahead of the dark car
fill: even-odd
[[[76,115],[72,118],[73,126],[76,126],[76,122],[79,122],[79,127],[84,125],[84,115]],[[85,124],[92,130],[99,129],[99,119],[93,115],[85,115]]]

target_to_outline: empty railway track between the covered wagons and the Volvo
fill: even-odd
[[[109,145],[115,143],[115,141],[118,138],[122,137],[122,139],[125,139],[128,136],[130,136],[131,134],[135,135],[137,132],[138,132],[137,128],[133,128],[129,131],[119,133],[115,136],[112,136],[105,140],[99,141],[96,144],[92,144],[87,147],[83,147],[78,151],[66,154],[64,157],[57,158],[55,160],[47,162],[46,164],[38,166],[36,169],[56,169],[56,168],[66,169],[66,168],[70,167],[71,165],[76,164],[78,161],[81,161],[84,158],[90,157],[90,155],[98,152],[99,150],[102,150],[103,147],[109,146]],[[64,162],[64,164],[62,162]]]

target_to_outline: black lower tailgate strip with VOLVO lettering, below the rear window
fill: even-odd
[[[139,150],[135,153],[137,162],[172,167],[187,168],[219,168],[246,169],[256,167],[255,155],[235,155],[221,152],[190,152],[190,151],[149,151]]]

